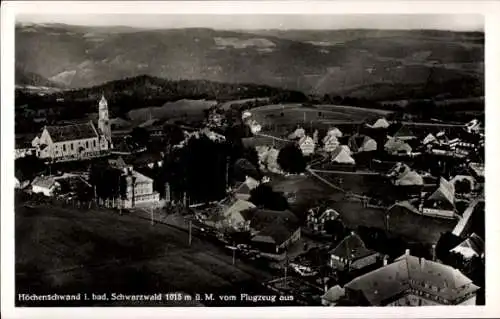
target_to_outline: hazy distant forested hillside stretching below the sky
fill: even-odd
[[[16,66],[68,88],[147,74],[380,100],[395,99],[401,89],[391,90],[394,83],[407,91],[430,83],[438,89],[424,95],[443,94],[443,86],[445,94],[462,98],[482,95],[483,63],[483,33],[16,28]],[[453,81],[472,85],[448,92]]]

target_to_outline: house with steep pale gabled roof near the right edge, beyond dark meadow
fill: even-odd
[[[441,177],[438,188],[423,201],[421,206],[424,215],[454,218],[455,186]]]

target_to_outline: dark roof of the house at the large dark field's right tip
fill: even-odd
[[[249,209],[241,212],[257,236],[270,237],[275,244],[281,245],[299,228],[297,217],[290,211]]]

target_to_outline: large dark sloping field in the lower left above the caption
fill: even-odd
[[[265,270],[176,228],[109,211],[16,206],[18,293],[258,289]],[[175,304],[172,304],[175,305]]]

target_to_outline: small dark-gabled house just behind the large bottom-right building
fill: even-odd
[[[345,237],[329,252],[330,267],[338,271],[359,270],[375,264],[380,254],[366,248],[363,240],[354,232]]]

